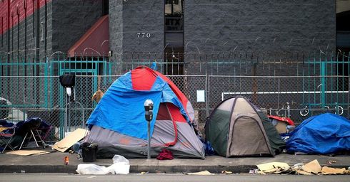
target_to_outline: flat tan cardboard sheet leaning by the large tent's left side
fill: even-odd
[[[85,137],[87,130],[86,129],[76,129],[74,132],[69,133],[67,137],[61,139],[61,141],[57,142],[52,146],[57,151],[64,152],[71,148],[76,142],[80,141]]]

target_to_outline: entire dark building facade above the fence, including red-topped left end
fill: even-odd
[[[106,14],[117,55],[336,50],[329,0],[3,0],[0,8],[0,51],[11,56],[67,53]]]

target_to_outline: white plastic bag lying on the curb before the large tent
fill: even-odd
[[[114,155],[113,164],[109,167],[96,164],[79,164],[76,172],[79,174],[128,174],[130,164],[124,156]]]

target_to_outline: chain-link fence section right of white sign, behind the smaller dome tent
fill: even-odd
[[[291,117],[296,123],[322,112],[349,117],[349,77],[209,76],[208,91],[210,109],[243,95],[268,114]]]

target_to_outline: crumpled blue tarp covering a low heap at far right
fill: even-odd
[[[286,142],[289,152],[335,154],[350,150],[350,120],[326,113],[309,117],[291,132]]]

